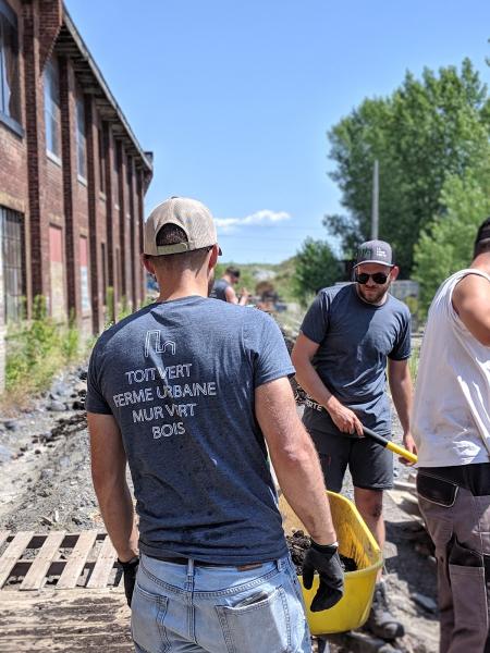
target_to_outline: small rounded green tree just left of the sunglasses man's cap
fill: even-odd
[[[326,241],[306,238],[296,254],[293,275],[295,295],[306,304],[308,295],[332,285],[341,278],[341,267]]]

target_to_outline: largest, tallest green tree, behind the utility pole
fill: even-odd
[[[481,160],[489,136],[487,87],[469,60],[420,81],[407,73],[389,98],[366,99],[329,133],[331,177],[350,218],[324,224],[351,250],[369,237],[372,167],[380,169],[380,237],[395,250],[402,275],[413,266],[414,245],[434,219],[444,219],[441,192]]]

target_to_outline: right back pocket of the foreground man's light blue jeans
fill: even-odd
[[[229,653],[290,653],[291,620],[282,587],[257,603],[216,609]]]

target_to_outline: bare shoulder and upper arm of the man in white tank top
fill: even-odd
[[[482,276],[468,274],[454,288],[453,306],[467,330],[490,347],[490,283]]]

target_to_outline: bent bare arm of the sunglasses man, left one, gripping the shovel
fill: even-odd
[[[299,385],[311,398],[328,410],[340,431],[343,433],[356,432],[358,435],[363,435],[363,424],[356,414],[346,406],[343,406],[339,399],[329,392],[311,365],[311,359],[317,353],[318,347],[318,343],[314,343],[306,337],[306,335],[299,333],[291,354],[293,365],[296,368],[296,379]]]

